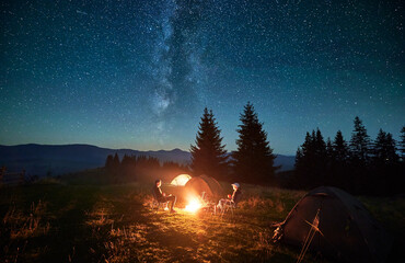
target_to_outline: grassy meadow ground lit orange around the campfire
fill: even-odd
[[[299,249],[271,243],[270,225],[281,221],[304,192],[245,185],[235,215],[221,218],[187,213],[181,198],[176,214],[155,213],[150,187],[43,181],[0,188],[0,262],[297,261]],[[165,191],[181,194],[175,187]],[[404,201],[360,199],[402,244]],[[327,262],[310,253],[304,261]]]

